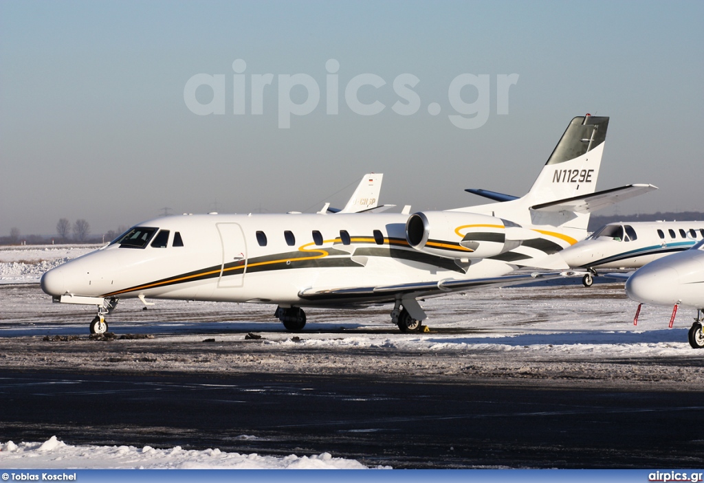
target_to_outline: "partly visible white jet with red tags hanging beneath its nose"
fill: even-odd
[[[696,309],[697,316],[689,329],[689,344],[695,349],[704,348],[704,240],[689,250],[662,257],[636,270],[626,282],[626,294],[640,304],[672,306],[670,327],[677,307]],[[638,311],[640,308],[639,305]]]

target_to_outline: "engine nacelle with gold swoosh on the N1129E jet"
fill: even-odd
[[[523,230],[510,221],[485,214],[419,212],[406,221],[406,240],[416,250],[440,257],[486,258],[520,245],[520,241],[507,239],[507,228]]]

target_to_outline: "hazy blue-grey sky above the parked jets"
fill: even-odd
[[[526,193],[586,112],[610,117],[598,189],[660,188],[600,214],[703,210],[703,20],[700,1],[6,0],[0,236],[315,212],[367,172],[382,203],[482,204],[465,188]]]

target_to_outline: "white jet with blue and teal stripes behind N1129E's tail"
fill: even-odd
[[[655,259],[688,250],[704,239],[704,221],[610,223],[589,238],[565,248],[560,256],[572,269],[587,269],[589,287],[596,269],[637,269]]]

